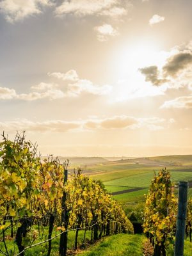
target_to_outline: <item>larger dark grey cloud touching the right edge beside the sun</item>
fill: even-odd
[[[186,68],[189,64],[192,63],[192,54],[189,52],[180,52],[175,54],[170,59],[168,63],[164,65],[163,71],[165,76],[176,76],[177,73]]]

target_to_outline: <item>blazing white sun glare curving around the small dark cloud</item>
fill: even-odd
[[[155,42],[143,41],[131,46],[122,47],[116,56],[116,77],[118,81],[113,100],[124,101],[138,97],[162,95],[166,89],[158,88],[145,81],[140,68],[156,65],[159,70],[163,67],[168,56],[161,51]]]

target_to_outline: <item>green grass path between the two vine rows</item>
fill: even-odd
[[[142,235],[117,234],[106,237],[100,243],[90,247],[78,256],[141,256]]]

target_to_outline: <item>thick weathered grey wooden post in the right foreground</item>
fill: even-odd
[[[188,204],[188,182],[180,181],[174,256],[184,255],[184,237],[185,237],[185,227],[186,227],[187,204]]]

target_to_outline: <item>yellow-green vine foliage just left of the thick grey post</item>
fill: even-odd
[[[146,199],[143,228],[150,234],[154,255],[166,255],[175,235],[177,200],[170,178],[168,170],[154,173]]]

